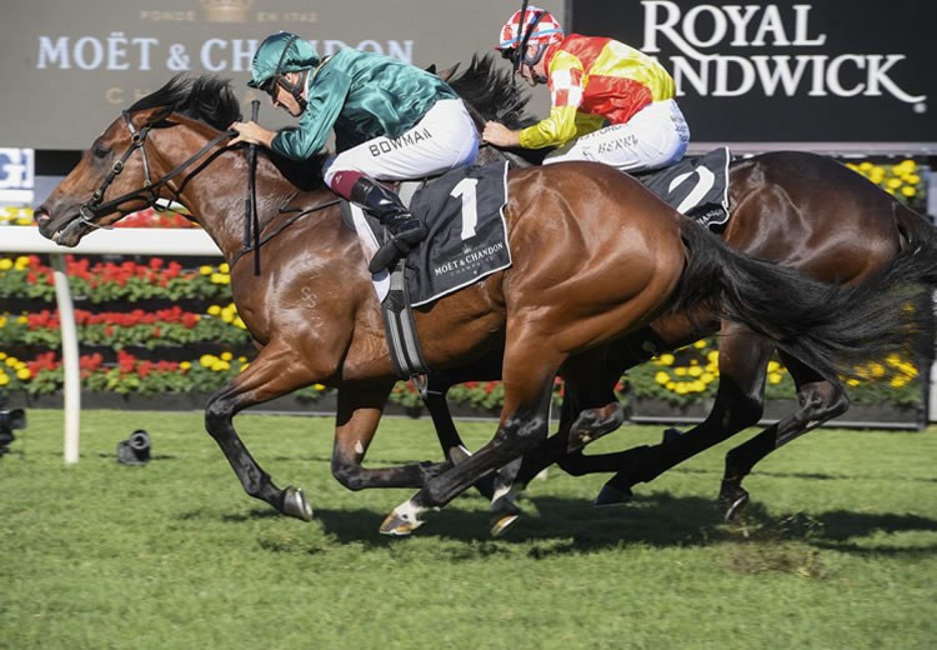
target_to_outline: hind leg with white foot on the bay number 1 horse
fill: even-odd
[[[523,343],[509,344],[504,356],[504,406],[494,438],[394,508],[381,533],[409,535],[423,523],[420,516],[425,510],[445,506],[481,476],[504,467],[546,437],[553,378],[563,359],[543,342],[535,342],[535,336],[524,336],[521,329],[517,327],[514,341]]]

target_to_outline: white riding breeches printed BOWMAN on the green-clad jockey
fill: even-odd
[[[331,186],[338,172],[359,172],[375,180],[408,180],[469,165],[478,156],[479,136],[461,99],[440,99],[416,126],[398,138],[379,136],[335,156],[325,170]]]

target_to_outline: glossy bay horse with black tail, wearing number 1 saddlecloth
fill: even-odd
[[[338,389],[332,469],[340,482],[352,490],[422,487],[382,527],[407,534],[422,510],[445,505],[543,440],[560,366],[586,385],[576,377],[575,355],[602,349],[668,310],[715,310],[831,381],[842,364],[900,348],[917,326],[915,313],[900,310],[900,292],[885,291],[890,279],[843,291],[750,260],[608,167],[516,171],[505,210],[513,267],[416,314],[433,367],[467,365],[504,341],[504,407],[494,438],[456,466],[365,469],[396,378],[360,246],[317,170],[303,170],[309,189],[301,190],[289,180],[295,169],[261,155],[263,255],[260,275],[253,274],[257,251],[244,254],[243,245],[248,164],[241,147],[226,147],[231,132],[223,130],[238,113],[228,83],[171,81],[113,121],[36,219],[42,234],[75,246],[158,198],[186,205],[231,264],[234,301],[260,347],[248,369],[209,401],[206,429],[245,491],[293,517],[311,517],[305,495],[275,486],[232,417],[305,385]]]

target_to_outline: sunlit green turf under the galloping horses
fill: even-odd
[[[303,523],[244,494],[201,415],[85,413],[71,467],[61,412],[28,416],[0,460],[0,647],[937,647],[935,430],[813,432],[749,478],[744,524],[713,506],[723,445],[631,506],[593,508],[602,476],[553,470],[505,538],[471,494],[394,539],[378,526],[410,491],[335,482],[330,420],[237,420],[279,485],[305,487]],[[154,461],[117,464],[140,427]],[[492,425],[463,430],[478,446]],[[389,419],[368,461],[435,445],[426,420]]]

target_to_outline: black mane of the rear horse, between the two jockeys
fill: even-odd
[[[485,120],[515,129],[537,123],[525,113],[530,100],[527,88],[513,83],[511,72],[498,68],[491,53],[472,54],[468,68],[454,74],[448,83]]]

